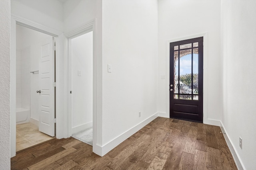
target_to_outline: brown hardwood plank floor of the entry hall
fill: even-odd
[[[11,158],[13,170],[237,170],[220,127],[157,117],[100,157],[72,137]]]

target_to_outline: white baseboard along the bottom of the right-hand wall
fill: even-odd
[[[223,132],[224,138],[226,140],[226,143],[228,144],[228,148],[234,158],[234,161],[236,163],[238,170],[245,170],[244,165],[242,164],[240,157],[238,156],[236,150],[234,149],[232,142],[229,140],[228,134],[226,133],[226,130],[221,121],[220,121],[220,129]]]

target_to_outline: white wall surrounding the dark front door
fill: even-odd
[[[169,117],[166,113],[169,78],[161,79],[170,69],[166,68],[166,41],[204,32],[208,32],[205,42],[208,51],[204,51],[204,60],[208,60],[208,67],[204,66],[204,77],[208,74],[208,81],[204,80],[208,96],[204,94],[204,101],[207,99],[208,105],[204,108],[204,123],[212,123],[210,120],[221,118],[220,0],[158,0],[158,111],[164,117]]]

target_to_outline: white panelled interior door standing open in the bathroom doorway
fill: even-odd
[[[39,60],[39,131],[54,137],[54,37],[41,43]]]

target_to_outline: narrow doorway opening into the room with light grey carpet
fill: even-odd
[[[69,39],[72,137],[92,146],[93,31]]]

